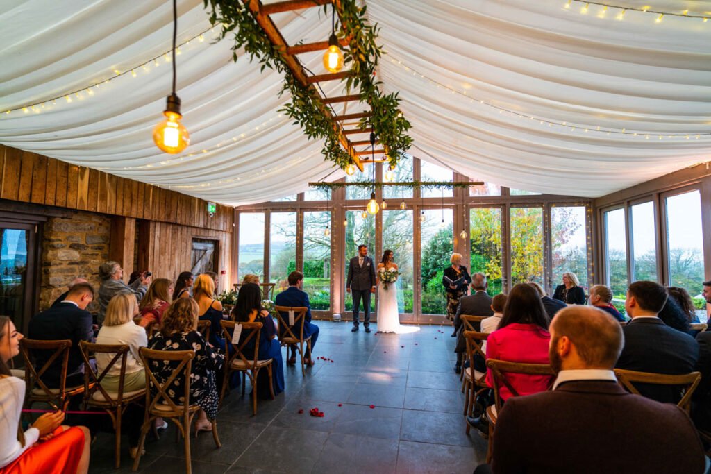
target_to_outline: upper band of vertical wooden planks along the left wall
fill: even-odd
[[[232,208],[0,145],[0,198],[232,233]]]

